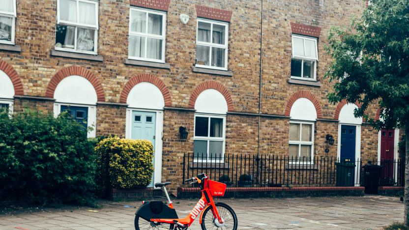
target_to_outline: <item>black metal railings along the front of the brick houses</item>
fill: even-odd
[[[361,159],[340,160],[322,156],[294,158],[278,155],[184,154],[184,180],[207,173],[211,180],[233,187],[354,186],[362,185],[365,173]],[[381,186],[402,186],[405,166],[400,160],[373,160],[380,165]],[[379,172],[379,171],[378,171]]]

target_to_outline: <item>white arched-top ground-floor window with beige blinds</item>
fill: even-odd
[[[289,131],[289,157],[292,162],[313,162],[316,120],[317,111],[310,100],[298,98],[292,104]]]

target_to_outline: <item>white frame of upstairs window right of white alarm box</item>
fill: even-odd
[[[202,19],[202,18],[198,18],[196,20],[196,45],[201,45],[201,46],[208,46],[210,47],[210,51],[209,51],[209,65],[201,65],[201,64],[195,64],[196,67],[199,68],[207,68],[207,69],[218,69],[218,70],[228,70],[227,69],[227,61],[228,61],[228,56],[229,56],[229,23],[224,23],[224,22],[219,22],[219,21],[213,21],[213,20],[208,20],[208,19]],[[203,23],[208,23],[210,24],[210,42],[203,42],[203,41],[199,41],[198,40],[198,33],[199,33],[199,22],[203,22]],[[226,33],[225,33],[225,44],[215,44],[212,43],[212,39],[213,39],[213,25],[220,25],[220,26],[225,26],[226,28]],[[225,67],[217,67],[217,66],[211,66],[211,51],[212,51],[212,47],[215,48],[223,48],[226,49],[226,55],[225,55]],[[197,47],[196,47],[196,52],[197,52]]]

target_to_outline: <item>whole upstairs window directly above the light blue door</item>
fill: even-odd
[[[166,14],[131,8],[128,58],[165,62]]]

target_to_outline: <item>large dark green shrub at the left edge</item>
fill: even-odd
[[[0,113],[0,200],[92,204],[95,155],[67,113]]]

